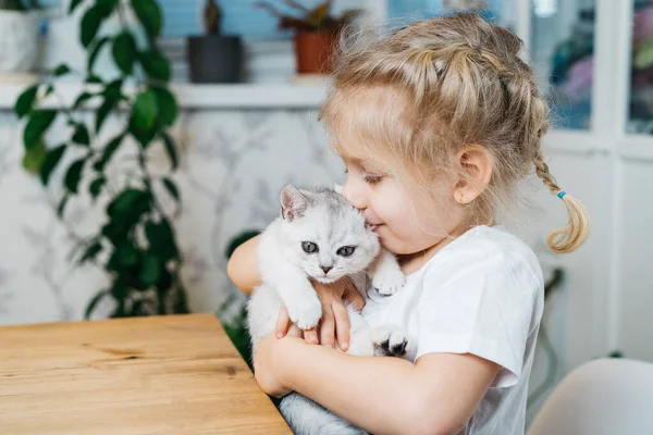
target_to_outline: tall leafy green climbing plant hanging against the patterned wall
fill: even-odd
[[[88,60],[85,70],[60,64],[16,100],[14,111],[25,120],[24,166],[38,173],[44,187],[60,185],[57,215],[64,225],[71,202],[104,210],[90,233],[67,227],[77,240],[72,258],[107,276],[107,286],[88,302],[87,318],[104,300],[113,302],[113,318],[187,313],[183,258],[172,211],[164,206],[172,199],[178,208],[181,192],[173,181],[178,158],[170,136],[178,108],[170,89],[170,62],[156,45],[161,9],[156,0],[72,0],[69,13],[77,8],[83,10],[78,25]],[[128,15],[137,18],[136,26],[120,20],[113,32],[99,33],[103,24]],[[146,38],[139,40],[139,34]],[[121,72],[111,82],[96,74],[102,51],[112,54]],[[63,75],[78,76],[74,102],[46,103],[57,95],[57,78]],[[107,133],[109,119],[115,132],[107,139],[100,133]],[[52,142],[48,135],[54,125],[64,133],[58,136],[61,141]],[[159,147],[170,159],[170,170],[155,173],[150,152]],[[121,153],[130,159],[119,159]]]

